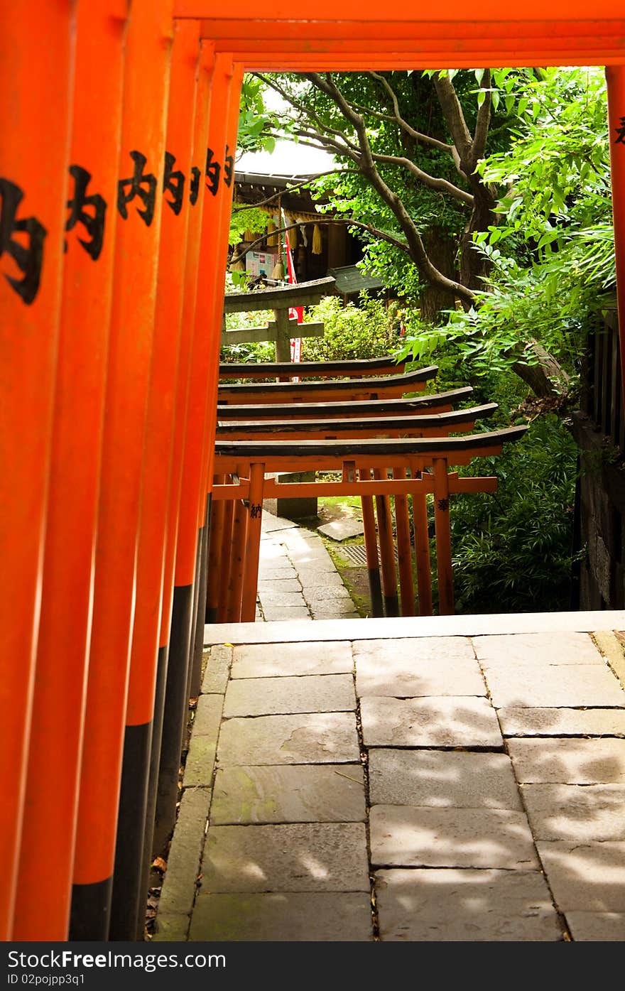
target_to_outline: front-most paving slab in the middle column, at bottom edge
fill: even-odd
[[[487,942],[562,939],[544,877],[509,870],[380,870],[382,940]]]

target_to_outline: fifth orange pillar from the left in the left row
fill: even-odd
[[[202,230],[203,207],[205,202],[204,172],[206,167],[206,141],[208,116],[211,101],[211,83],[215,64],[214,48],[211,42],[202,41],[198,88],[195,105],[195,127],[193,134],[192,174],[200,177],[198,199],[193,204],[187,233],[186,263],[184,271],[184,298],[179,353],[178,390],[174,411],[173,456],[171,487],[167,511],[165,534],[165,557],[163,570],[163,598],[160,615],[160,635],[158,640],[158,663],[156,671],[156,697],[152,748],[150,756],[150,778],[148,786],[148,806],[144,834],[143,874],[141,891],[148,897],[151,855],[154,846],[156,816],[156,788],[160,764],[160,745],[164,710],[165,683],[169,654],[169,630],[171,627],[171,607],[173,600],[173,573],[178,534],[178,516],[182,486],[182,459],[186,433],[187,405],[191,366],[194,364],[195,348],[201,343],[201,335],[195,334],[195,298],[198,281],[198,258]],[[138,937],[144,936],[144,919],[138,920]]]

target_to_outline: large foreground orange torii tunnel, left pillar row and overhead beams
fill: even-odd
[[[193,636],[244,69],[605,65],[624,334],[620,6],[0,0],[0,937],[66,938],[72,882],[73,937],[134,935],[150,740]],[[111,929],[125,737],[143,852]]]

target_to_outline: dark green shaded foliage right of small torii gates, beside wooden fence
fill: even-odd
[[[553,413],[470,475],[496,475],[494,495],[451,501],[459,612],[570,608],[576,447]]]

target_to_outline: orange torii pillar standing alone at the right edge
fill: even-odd
[[[607,81],[608,135],[612,175],[616,298],[623,395],[622,416],[622,410],[625,410],[625,65],[609,65],[605,69],[605,78]]]

